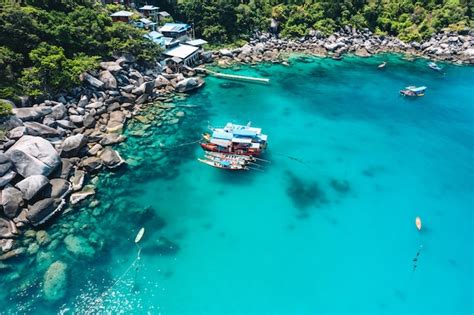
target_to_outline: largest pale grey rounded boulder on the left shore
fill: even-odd
[[[40,137],[23,136],[5,154],[18,174],[48,176],[61,160],[50,142]]]

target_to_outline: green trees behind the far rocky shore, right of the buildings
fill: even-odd
[[[330,34],[342,26],[368,28],[405,41],[426,39],[443,28],[472,25],[469,0],[183,0],[176,11],[211,41],[248,36],[279,22],[282,36],[301,37],[310,29]]]

